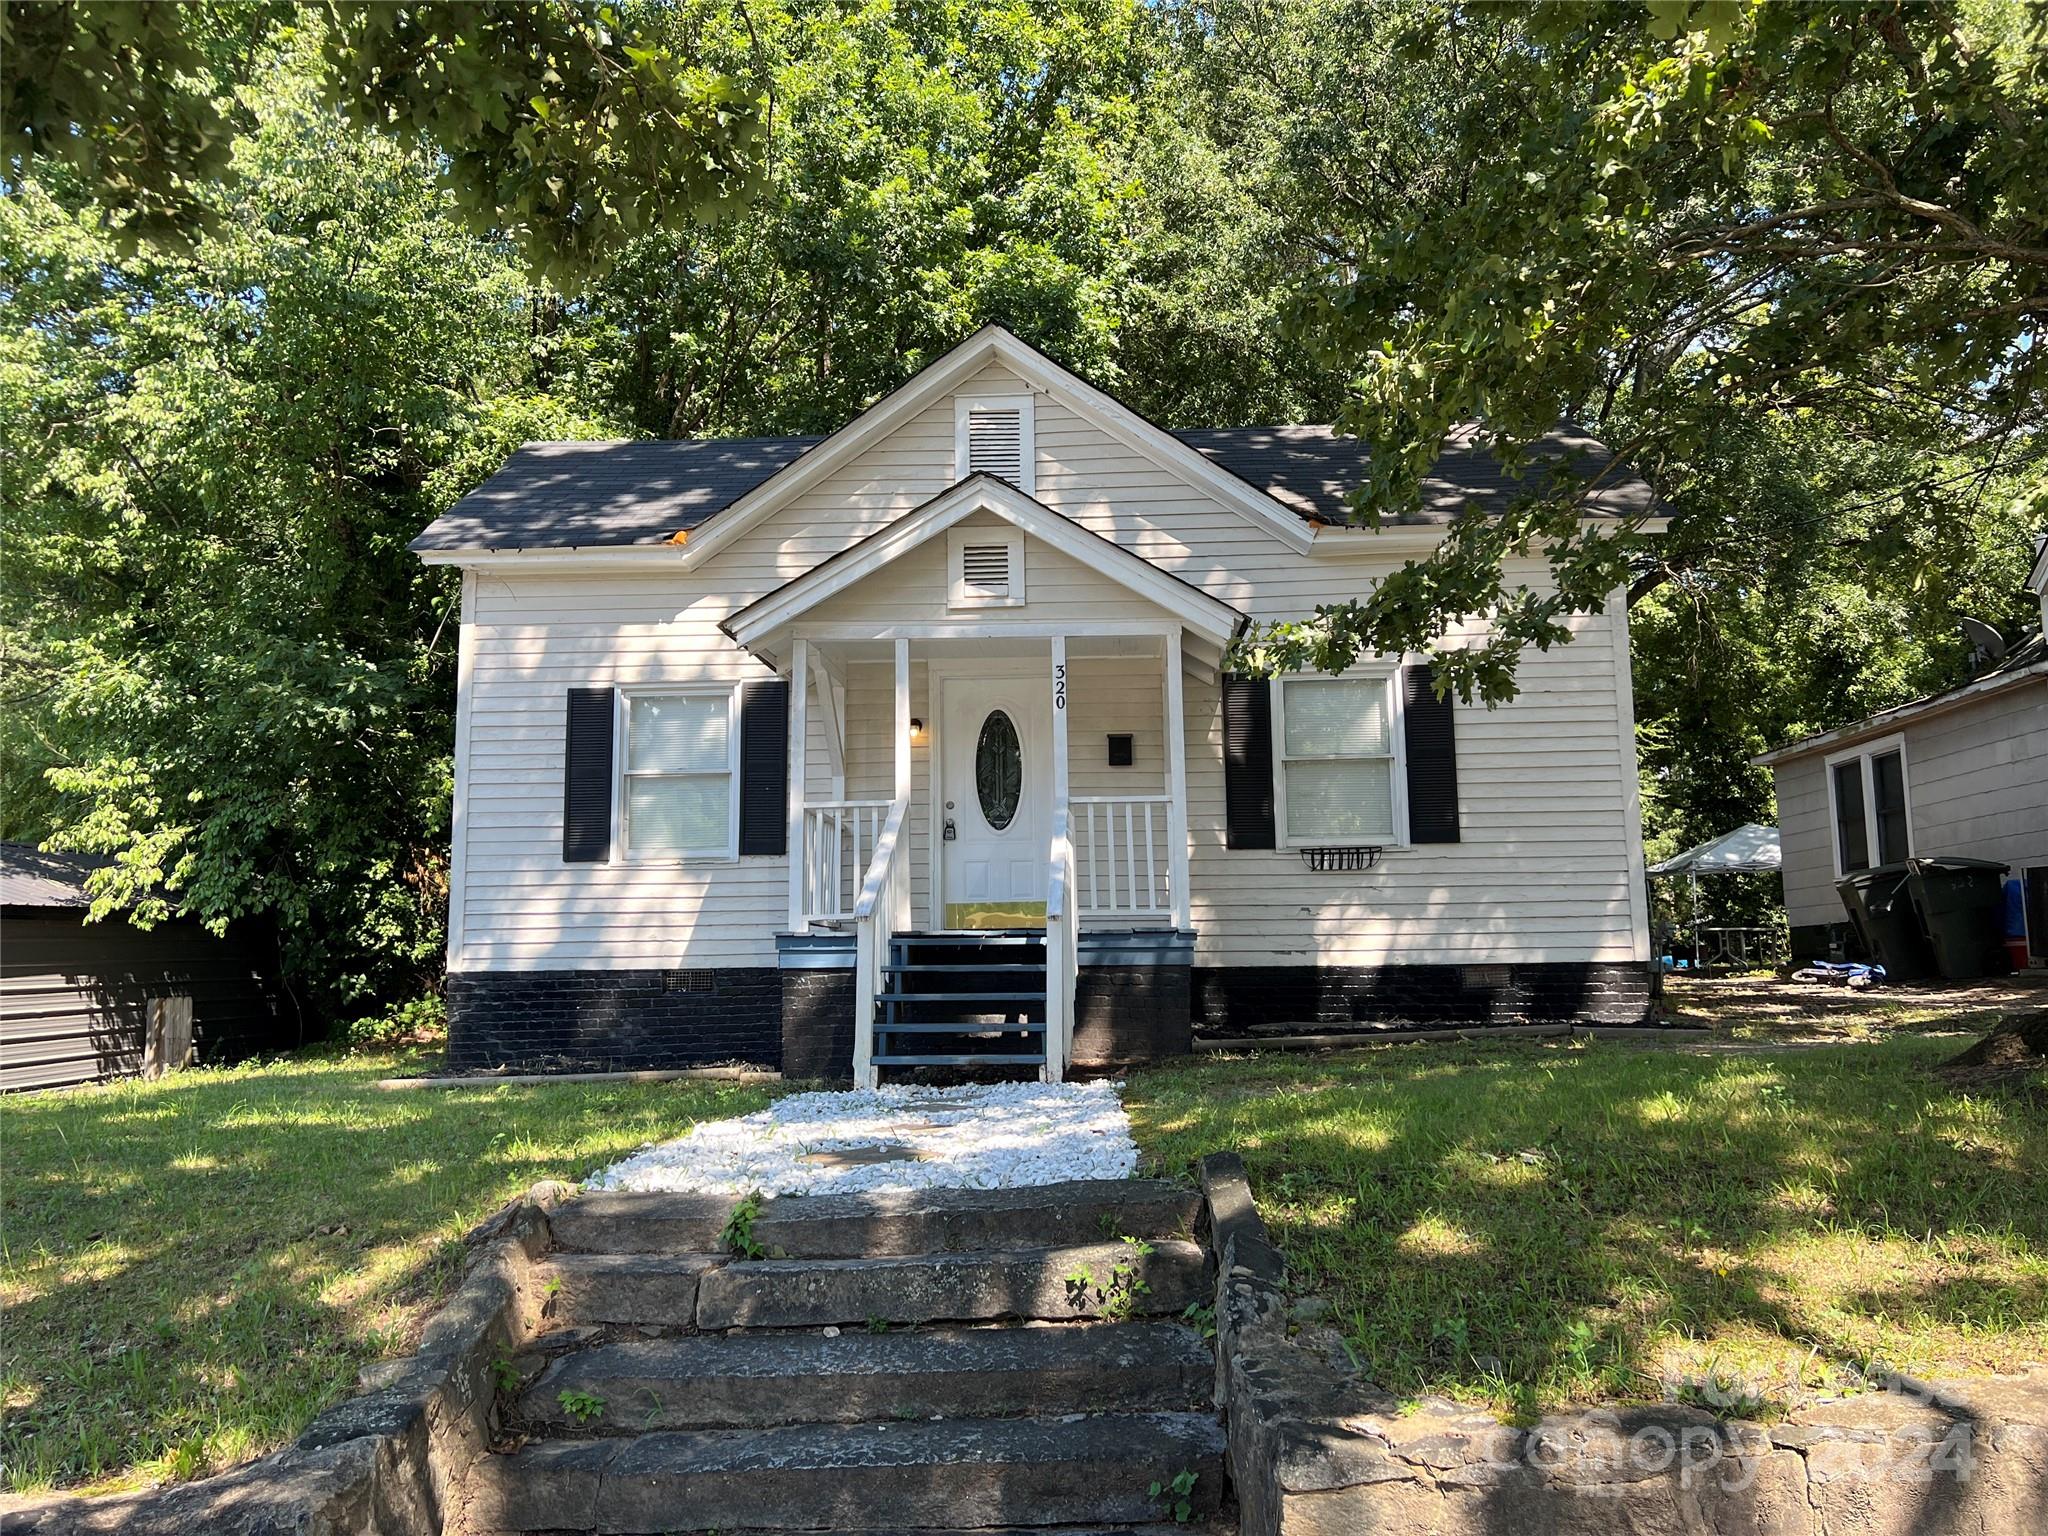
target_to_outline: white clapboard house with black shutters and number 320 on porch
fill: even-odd
[[[1651,508],[1552,449],[1589,516]],[[1423,655],[1225,674],[1516,489],[1466,436],[1415,516],[1339,526],[1362,467],[1165,432],[993,328],[829,438],[520,449],[414,543],[463,569],[453,1063],[1059,1077],[1642,1018],[1620,594],[1493,711]]]

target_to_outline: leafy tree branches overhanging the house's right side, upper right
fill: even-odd
[[[1456,47],[1475,70],[1440,119],[1436,164],[1456,174],[1331,250],[1300,313],[1350,377],[1339,420],[1374,444],[1362,518],[1409,504],[1470,420],[1526,465],[1561,418],[1593,418],[1675,494],[1681,532],[1712,516],[1688,487],[1765,414],[1960,453],[1978,477],[2038,463],[2044,25],[1952,0],[1405,16],[1411,59]],[[1257,659],[1335,668],[1489,612],[1491,641],[1448,651],[1442,676],[1511,696],[1524,645],[1567,639],[1569,614],[1653,559],[1634,528],[1581,528],[1597,481],[1563,469],[1366,598],[1268,631]],[[1532,547],[1550,582],[1509,586],[1503,563]]]

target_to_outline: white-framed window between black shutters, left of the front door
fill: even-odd
[[[731,858],[733,692],[629,694],[627,858]]]

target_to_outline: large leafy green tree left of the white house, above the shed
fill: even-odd
[[[309,1012],[438,971],[457,584],[406,543],[524,438],[510,252],[266,49],[217,233],[119,254],[84,178],[0,201],[6,815],[96,911],[260,915]]]

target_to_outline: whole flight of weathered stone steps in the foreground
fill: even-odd
[[[555,1212],[547,1331],[512,1362],[461,1530],[1233,1530],[1198,1198],[1159,1182]],[[782,1257],[791,1253],[795,1257]],[[555,1284],[559,1280],[559,1284]]]

